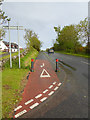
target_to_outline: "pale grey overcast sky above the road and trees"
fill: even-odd
[[[7,0],[6,0],[7,1]],[[10,1],[10,0],[9,0]],[[36,0],[37,1],[37,0]],[[40,1],[40,0],[39,0]],[[56,39],[54,26],[78,24],[88,17],[88,0],[84,2],[4,2],[3,11],[11,18],[10,25],[24,26],[38,34],[42,49],[50,48]],[[20,45],[25,47],[24,31],[20,31]],[[8,41],[8,34],[5,39]],[[17,42],[17,31],[11,31],[11,41]]]

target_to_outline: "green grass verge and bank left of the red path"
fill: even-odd
[[[29,67],[31,66],[30,59],[37,57],[38,51],[33,49],[28,52],[22,59],[22,64],[24,66],[21,69],[17,67],[10,69],[6,65],[2,71],[2,117],[12,118],[14,108],[18,105],[22,99],[22,92],[27,83],[27,75],[29,72]],[[13,61],[14,62],[14,61]]]

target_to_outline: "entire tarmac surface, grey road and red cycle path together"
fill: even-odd
[[[88,118],[88,66],[88,59],[82,57],[40,53],[16,117],[21,110],[19,118]]]

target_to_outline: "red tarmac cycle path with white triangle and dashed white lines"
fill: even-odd
[[[60,85],[61,83],[50,63],[47,60],[36,60],[34,72],[30,72],[22,101],[14,110],[14,118],[20,117],[44,102]]]

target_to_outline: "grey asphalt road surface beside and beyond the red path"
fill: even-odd
[[[40,53],[48,60],[62,83],[56,93],[21,118],[88,118],[88,59],[59,53]]]

